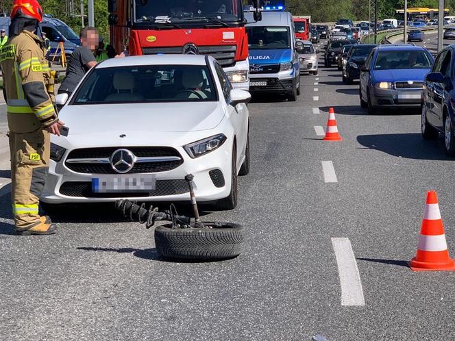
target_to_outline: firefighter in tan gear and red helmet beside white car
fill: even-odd
[[[51,69],[44,42],[36,36],[42,9],[36,0],[14,0],[10,40],[0,53],[11,152],[12,209],[21,235],[53,234],[56,226],[38,214],[49,169],[49,133],[64,123],[53,106]]]

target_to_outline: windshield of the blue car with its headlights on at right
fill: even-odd
[[[432,62],[425,51],[380,51],[374,69],[430,68],[431,64]]]

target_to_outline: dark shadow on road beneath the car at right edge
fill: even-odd
[[[376,149],[389,155],[416,160],[453,160],[444,152],[443,140],[425,141],[421,134],[378,134],[357,136],[367,149]]]

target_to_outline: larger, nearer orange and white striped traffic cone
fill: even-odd
[[[414,271],[455,270],[455,262],[447,250],[443,220],[434,190],[427,193],[417,255],[410,261],[410,268]]]

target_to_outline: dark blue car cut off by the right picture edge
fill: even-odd
[[[444,134],[445,152],[455,156],[455,45],[441,51],[423,87],[421,114],[425,140]]]

